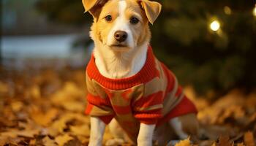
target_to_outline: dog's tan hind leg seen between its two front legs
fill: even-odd
[[[111,120],[109,124],[109,129],[114,139],[109,139],[105,145],[121,145],[125,142],[125,132],[121,128],[121,126],[119,126],[116,119]]]

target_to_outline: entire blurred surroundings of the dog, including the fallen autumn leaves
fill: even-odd
[[[81,0],[0,1],[0,145],[88,145],[91,15]],[[151,45],[197,107],[200,146],[255,145],[256,1],[159,2]]]

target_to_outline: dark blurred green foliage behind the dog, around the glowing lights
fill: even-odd
[[[253,88],[256,82],[256,18],[253,1],[160,0],[162,13],[151,26],[151,45],[183,85],[200,93]],[[41,0],[48,18],[64,23],[88,23],[81,1]],[[226,8],[225,8],[226,7]],[[225,10],[227,9],[227,10]],[[229,12],[226,12],[229,11]],[[209,28],[219,20],[218,31]]]

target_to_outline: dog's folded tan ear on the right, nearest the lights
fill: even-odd
[[[144,9],[148,21],[153,24],[161,12],[162,5],[156,1],[139,0],[138,2]]]

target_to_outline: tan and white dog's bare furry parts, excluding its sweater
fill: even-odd
[[[82,0],[86,12],[94,18],[91,39],[94,40],[94,58],[97,69],[104,77],[121,79],[140,72],[146,58],[151,32],[148,23],[153,24],[161,11],[161,4],[148,0]],[[91,117],[89,145],[102,145],[105,123]],[[181,138],[197,135],[198,123],[195,114],[173,118],[165,124]],[[169,137],[166,128],[154,124],[140,123],[137,144],[150,146],[153,140],[165,145]],[[116,120],[110,122],[114,139],[106,145],[121,145],[129,139]]]

